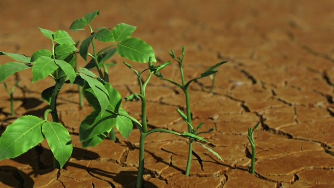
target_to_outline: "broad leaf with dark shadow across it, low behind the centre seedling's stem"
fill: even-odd
[[[117,114],[113,114],[108,111],[102,114],[100,110],[93,111],[91,114],[86,116],[79,128],[80,142],[89,140],[109,131],[116,124],[116,116]]]

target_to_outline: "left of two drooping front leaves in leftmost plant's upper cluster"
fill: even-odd
[[[51,74],[58,68],[54,59],[42,56],[37,59],[32,67],[33,82],[39,81]]]

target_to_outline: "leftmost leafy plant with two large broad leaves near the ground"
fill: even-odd
[[[13,124],[7,126],[0,137],[0,160],[17,157],[46,138],[54,155],[53,166],[63,167],[71,156],[72,144],[67,129],[59,124],[57,96],[66,78],[71,84],[75,80],[76,73],[72,65],[76,47],[66,31],[52,32],[42,28],[39,30],[51,40],[51,51],[38,50],[31,57],[0,52],[0,55],[7,55],[18,61],[0,66],[0,81],[28,68],[32,68],[32,83],[48,75],[51,76],[55,85],[42,92],[42,98],[50,104],[50,109],[45,111],[44,121],[39,117],[28,115],[18,118]],[[51,113],[52,122],[47,121],[48,113]]]

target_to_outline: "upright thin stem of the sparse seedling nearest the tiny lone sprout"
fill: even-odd
[[[183,73],[182,62],[179,63],[179,67],[180,67],[181,79],[182,79],[182,89],[183,89],[183,92],[185,93],[185,96],[186,96],[187,122],[188,122],[189,125],[192,125],[192,123],[191,123],[189,91],[188,91],[188,87],[185,88],[185,76],[184,76],[184,73]],[[191,127],[189,125],[188,125],[188,132],[193,133],[193,130],[191,129]],[[188,162],[187,162],[186,173],[185,173],[186,176],[189,176],[189,173],[190,173],[191,157],[192,157],[192,139],[189,139]]]

